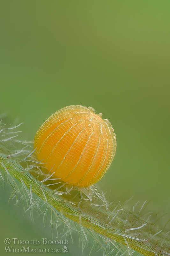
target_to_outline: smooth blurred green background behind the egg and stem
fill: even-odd
[[[161,228],[170,218],[169,13],[169,0],[0,1],[1,114],[23,122],[22,139],[33,140],[60,108],[102,112],[117,151],[99,187],[110,200],[133,196],[131,206],[151,199],[148,212],[167,213]],[[5,238],[51,237],[41,218],[32,223],[7,205],[7,188],[0,192],[2,255]]]

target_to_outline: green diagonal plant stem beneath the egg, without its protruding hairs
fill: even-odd
[[[102,210],[101,207],[92,203],[90,207],[85,207],[88,206],[87,201],[80,203],[80,197],[72,202],[70,195],[57,195],[53,189],[42,186],[40,180],[29,172],[25,172],[21,164],[4,156],[0,156],[0,168],[9,172],[17,180],[22,180],[27,188],[31,185],[36,195],[80,225],[93,229],[144,255],[170,255],[170,240],[167,234],[141,217],[123,209],[115,214],[110,210]]]

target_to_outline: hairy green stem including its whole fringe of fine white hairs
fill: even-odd
[[[36,159],[32,142],[18,140],[20,131],[15,130],[18,126],[8,129],[0,123],[0,168],[4,170],[0,172],[0,179],[12,187],[9,200],[16,198],[16,204],[20,205],[23,202],[24,211],[30,212],[32,220],[36,210],[43,216],[44,226],[48,221],[55,236],[59,235],[60,227],[62,237],[70,236],[74,241],[77,234],[82,252],[91,241],[89,255],[95,250],[101,255],[132,256],[136,253],[133,244],[140,252],[170,255],[166,246],[170,233],[149,223],[150,215],[147,220],[141,218],[147,201],[141,207],[137,202],[130,212],[120,201],[109,202],[97,185],[79,188],[64,183],[55,177],[53,167],[48,172],[43,159]],[[121,243],[116,242],[118,240]]]

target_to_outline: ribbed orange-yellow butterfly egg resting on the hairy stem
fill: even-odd
[[[40,161],[56,178],[87,187],[108,170],[116,151],[116,137],[102,113],[91,107],[67,106],[38,129],[34,147]]]

